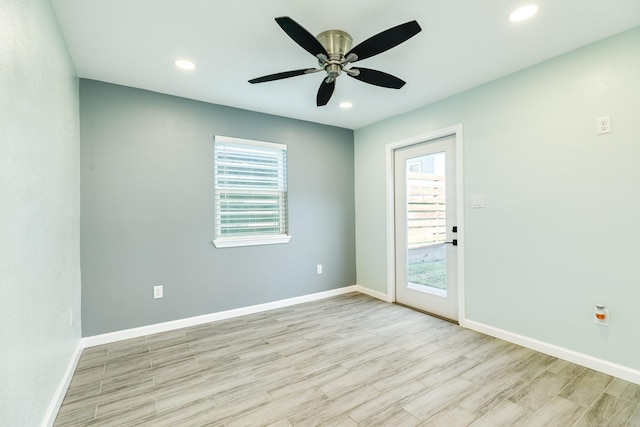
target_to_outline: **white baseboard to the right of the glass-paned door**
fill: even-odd
[[[460,322],[460,326],[640,385],[640,371],[636,369],[618,365],[607,360],[598,359],[597,357],[569,350],[564,347],[538,341],[503,329],[494,328],[493,326],[485,325],[484,323],[475,322],[473,320],[465,319]]]

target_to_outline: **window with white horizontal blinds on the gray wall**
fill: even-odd
[[[215,136],[216,247],[286,243],[287,146]]]

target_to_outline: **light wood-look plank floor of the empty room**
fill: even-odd
[[[55,426],[640,426],[640,386],[361,294],[84,350]]]

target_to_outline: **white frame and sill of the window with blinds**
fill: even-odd
[[[222,223],[221,223],[221,202],[220,202],[220,194],[226,190],[226,192],[233,193],[234,191],[230,187],[220,188],[218,186],[218,169],[219,169],[219,161],[217,157],[217,150],[220,144],[232,144],[232,145],[243,145],[246,147],[259,147],[259,148],[268,148],[270,150],[282,151],[284,164],[282,165],[283,176],[279,179],[282,179],[282,182],[279,182],[279,185],[282,185],[284,190],[281,191],[284,196],[284,203],[279,205],[279,209],[284,210],[284,214],[279,216],[279,228],[283,229],[282,233],[260,233],[256,232],[255,234],[242,234],[238,236],[223,236],[222,235]],[[275,142],[265,142],[265,141],[256,141],[244,138],[234,138],[229,136],[215,135],[214,136],[214,232],[215,238],[213,240],[213,244],[216,248],[229,248],[229,247],[238,247],[238,246],[256,246],[256,245],[273,245],[273,244],[282,244],[288,243],[291,240],[291,235],[289,235],[289,203],[288,203],[288,185],[287,185],[287,146],[285,144],[279,144]],[[247,175],[245,175],[247,176]],[[244,190],[246,191],[246,190]],[[259,190],[255,191],[254,195],[265,195],[268,193],[273,193],[273,190],[265,192],[260,192]],[[241,191],[240,191],[241,192]],[[236,193],[238,194],[238,193]],[[251,193],[250,193],[251,194]],[[284,204],[284,206],[282,205]],[[284,218],[284,224],[283,224]]]

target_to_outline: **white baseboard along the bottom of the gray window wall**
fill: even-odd
[[[304,295],[300,297],[288,298],[279,301],[268,302],[264,304],[252,305],[249,307],[241,307],[233,310],[219,311],[217,313],[204,314],[202,316],[189,317],[186,319],[173,320],[170,322],[156,323],[139,328],[125,329],[122,331],[110,332],[107,334],[94,335],[82,339],[83,347],[94,347],[102,344],[109,344],[116,341],[122,341],[130,338],[138,338],[146,335],[157,334],[160,332],[173,331],[180,328],[188,328],[191,326],[201,325],[203,323],[215,322],[217,320],[231,319],[247,314],[261,313],[263,311],[275,310],[277,308],[289,307],[291,305],[302,304],[304,302],[317,301],[325,298],[343,295],[350,292],[356,292],[356,286],[346,286],[344,288],[333,289],[316,294]]]

